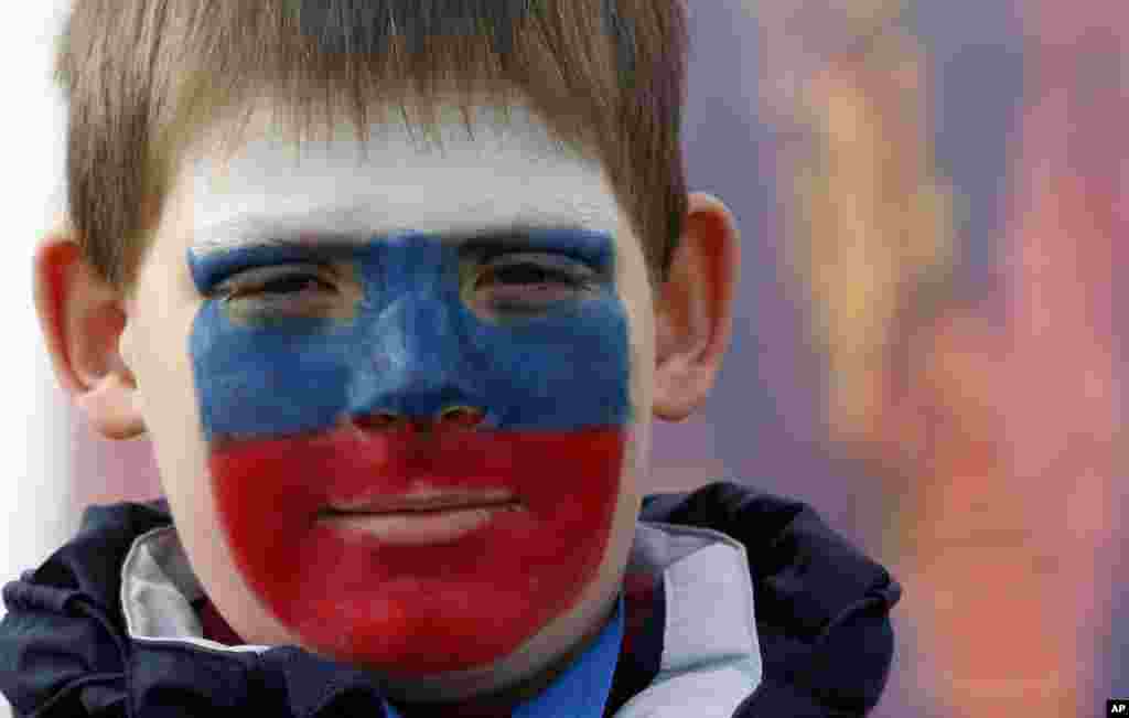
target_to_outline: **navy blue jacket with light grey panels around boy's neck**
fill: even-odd
[[[72,541],[3,588],[0,691],[15,713],[403,715],[351,666],[205,638],[186,567],[164,501],[88,508]],[[604,657],[594,648],[566,674],[613,675],[568,678],[571,698],[554,684],[514,715],[865,716],[889,677],[901,593],[803,502],[732,482],[649,496]]]

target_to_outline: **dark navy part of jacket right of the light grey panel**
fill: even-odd
[[[736,716],[865,716],[894,653],[901,585],[807,504],[730,481],[651,494],[640,519],[711,528],[746,550],[764,674]]]

